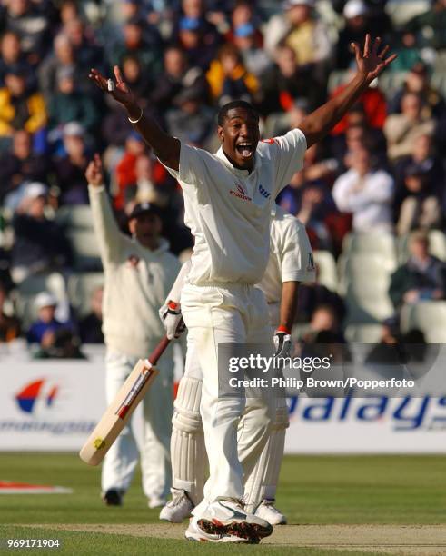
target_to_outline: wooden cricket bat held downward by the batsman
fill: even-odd
[[[90,434],[79,452],[81,460],[88,465],[97,465],[104,460],[104,455],[116,440],[118,434],[124,429],[134,409],[144,398],[154,381],[158,370],[154,365],[163,354],[170,340],[164,336],[163,340],[155,347],[148,359],[140,359],[121,389],[105,410],[101,420]]]

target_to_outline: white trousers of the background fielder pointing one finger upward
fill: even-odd
[[[173,359],[171,350],[169,348],[168,350],[156,364],[159,374],[142,402],[144,413],[143,445],[141,446],[143,490],[145,496],[154,501],[167,496],[172,476],[170,437],[173,413]],[[124,353],[107,352],[105,357],[107,403],[113,401],[137,361],[138,358],[124,355]],[[132,482],[139,453],[134,432],[129,425],[130,422],[105,455],[102,469],[103,492],[109,489],[119,489],[125,492]]]

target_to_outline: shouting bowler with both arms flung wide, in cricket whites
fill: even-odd
[[[211,542],[258,542],[273,532],[268,521],[247,512],[241,502],[243,472],[249,476],[269,438],[275,402],[262,398],[219,398],[218,345],[273,339],[268,306],[254,287],[263,276],[270,251],[270,214],[277,195],[302,169],[308,147],[321,141],[396,57],[380,52],[366,35],[363,49],[354,44],[357,71],[342,93],[309,114],[299,128],[260,141],[259,116],[251,104],[233,101],[218,114],[221,143],[215,154],[183,144],[144,114],[114,66],[114,80],[92,69],[90,78],[123,104],[134,128],[180,183],[184,222],[195,238],[191,271],[181,293],[184,323],[203,370],[201,416],[209,479],[203,501],[193,510],[186,531],[190,539]],[[253,422],[237,438],[242,415]],[[243,462],[238,445],[243,446]]]

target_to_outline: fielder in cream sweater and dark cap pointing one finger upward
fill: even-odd
[[[138,359],[152,352],[164,336],[158,308],[180,270],[178,259],[160,236],[162,221],[153,204],[136,204],[129,216],[132,238],[121,233],[104,187],[99,155],[89,164],[88,181],[94,231],[104,266],[103,332],[107,348],[106,398],[110,403]],[[157,363],[160,375],[143,401],[141,468],[150,508],[163,506],[171,485],[170,437],[173,412],[173,353],[167,348]],[[122,504],[138,462],[131,426],[107,452],[102,469],[103,500]]]

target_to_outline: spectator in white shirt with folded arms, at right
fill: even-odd
[[[373,168],[371,154],[365,148],[351,156],[350,167],[333,185],[338,209],[352,213],[354,232],[390,232],[393,178],[381,168]]]

